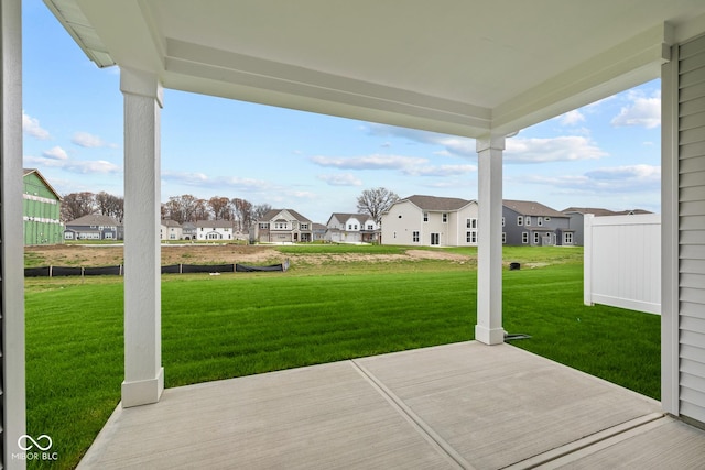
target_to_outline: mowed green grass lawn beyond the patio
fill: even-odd
[[[166,386],[473,339],[476,264],[336,261],[397,247],[282,247],[286,273],[164,275]],[[306,254],[329,255],[306,262]],[[506,248],[505,327],[514,346],[654,398],[658,316],[585,307],[581,249]],[[402,259],[403,260],[403,259]],[[534,267],[531,267],[534,266]],[[28,433],[47,434],[72,468],[120,400],[122,280],[28,280]],[[41,468],[29,462],[30,468]]]

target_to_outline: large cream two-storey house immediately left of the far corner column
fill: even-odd
[[[476,200],[414,195],[382,215],[381,242],[411,247],[476,247]]]

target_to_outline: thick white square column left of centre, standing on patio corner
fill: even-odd
[[[124,382],[122,407],[160,400],[162,296],[160,118],[158,77],[122,68],[124,96]]]

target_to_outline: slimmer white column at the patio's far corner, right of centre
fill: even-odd
[[[502,151],[503,136],[477,140],[478,245],[477,325],[475,339],[486,345],[505,341],[502,328]]]

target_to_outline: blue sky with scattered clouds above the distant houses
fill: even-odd
[[[117,67],[97,68],[42,2],[23,1],[24,166],[59,194],[123,195]],[[660,211],[660,81],[507,141],[503,197]],[[325,223],[364,189],[477,198],[475,141],[164,90],[162,200],[226,196]]]

